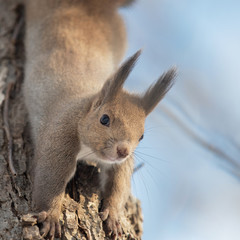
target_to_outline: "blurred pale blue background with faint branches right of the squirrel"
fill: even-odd
[[[178,67],[136,151],[143,239],[239,240],[240,1],[137,0],[121,13],[127,55],[143,48],[126,88]]]

